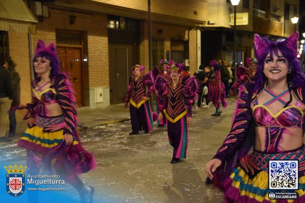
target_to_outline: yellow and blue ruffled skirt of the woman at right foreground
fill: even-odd
[[[298,160],[297,199],[270,199],[268,194],[269,160]],[[225,202],[269,203],[305,202],[305,152],[304,147],[283,153],[262,153],[253,151],[238,161],[230,177],[223,182]],[[274,191],[274,190],[273,190]]]

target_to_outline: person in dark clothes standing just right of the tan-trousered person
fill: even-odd
[[[20,106],[20,75],[16,71],[15,66],[16,64],[12,60],[11,57],[7,58],[8,67],[7,70],[12,75],[12,82],[13,82],[13,101],[11,105],[11,109],[13,107],[19,107]],[[9,131],[9,138],[14,138],[16,136],[16,115],[15,110],[11,110],[9,112],[10,117],[10,131]]]

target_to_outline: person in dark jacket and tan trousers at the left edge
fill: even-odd
[[[6,67],[8,63],[4,56],[0,56],[0,142],[12,140],[5,137],[8,111],[13,99],[12,77]]]

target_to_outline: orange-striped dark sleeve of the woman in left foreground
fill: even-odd
[[[65,76],[59,76],[58,80],[55,81],[54,87],[57,92],[58,104],[62,107],[65,116],[64,134],[69,133],[75,136],[77,108],[73,99],[74,95],[70,83]]]

